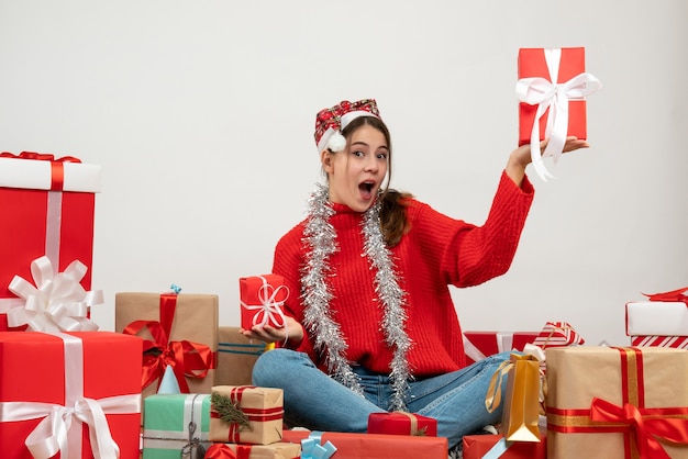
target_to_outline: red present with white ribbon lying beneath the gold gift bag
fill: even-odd
[[[466,435],[463,459],[482,457],[502,459],[545,459],[547,432],[541,430],[541,441],[507,441],[503,435]]]

